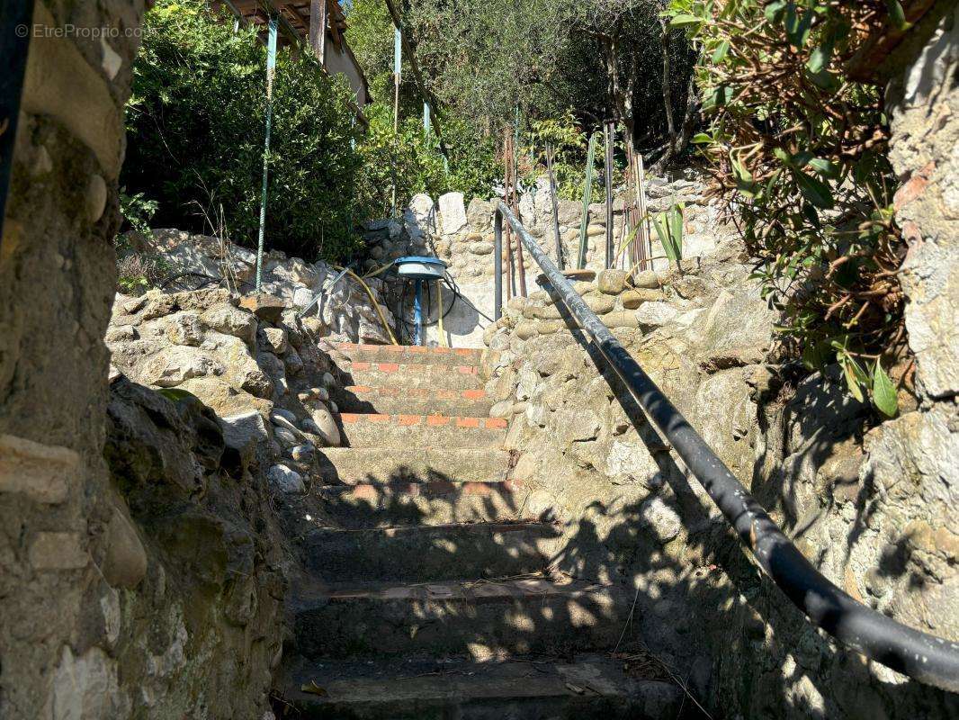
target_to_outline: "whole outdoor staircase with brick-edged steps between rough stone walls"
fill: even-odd
[[[338,349],[348,446],[307,498],[281,716],[676,717],[675,685],[609,656],[632,593],[550,571],[560,529],[510,477],[480,351]]]

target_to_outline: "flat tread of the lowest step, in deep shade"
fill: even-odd
[[[393,704],[404,701],[581,698],[659,693],[678,698],[675,685],[598,654],[568,659],[477,662],[466,658],[311,662],[297,659],[283,671],[284,699],[293,704]],[[316,684],[323,695],[300,688]],[[670,689],[673,688],[673,689]]]

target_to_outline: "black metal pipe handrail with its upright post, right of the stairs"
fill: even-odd
[[[576,322],[591,336],[596,348],[643,407],[643,412],[667,439],[686,467],[736,529],[760,567],[803,611],[831,636],[871,660],[925,684],[959,691],[959,644],[909,628],[866,607],[837,588],[817,570],[713,449],[692,429],[643,368],[623,348],[606,325],[579,297],[523,224],[502,202],[494,223],[496,317],[500,317],[503,285],[503,218],[526,246]]]

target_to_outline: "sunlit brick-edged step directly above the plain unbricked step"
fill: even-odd
[[[340,413],[350,447],[496,447],[506,437],[506,420],[450,415]]]

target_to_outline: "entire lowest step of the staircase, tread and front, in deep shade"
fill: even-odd
[[[601,655],[473,662],[311,662],[281,670],[284,703],[307,720],[675,720],[682,691]],[[304,692],[303,688],[316,688]],[[692,707],[691,703],[686,706]]]

